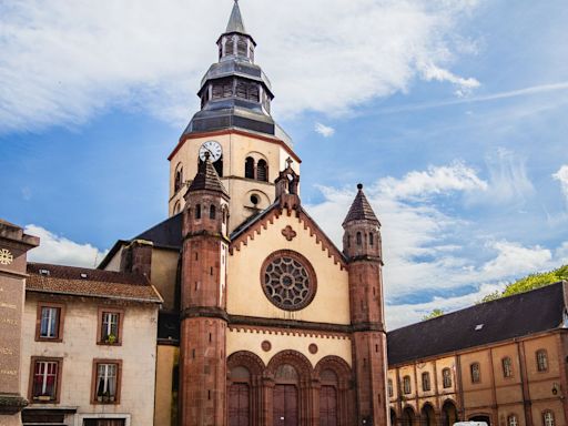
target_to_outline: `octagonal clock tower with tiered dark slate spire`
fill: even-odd
[[[235,1],[225,31],[219,37],[217,62],[201,80],[197,111],[170,154],[170,215],[183,210],[183,193],[210,153],[210,160],[231,196],[229,231],[274,201],[274,181],[300,158],[292,140],[271,115],[272,85],[255,63],[256,41],[246,31]]]

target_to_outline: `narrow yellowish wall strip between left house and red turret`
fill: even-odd
[[[173,407],[173,368],[178,364],[180,348],[178,346],[158,345],[155,374],[155,413],[154,425],[172,425]],[[172,425],[173,426],[173,425]]]

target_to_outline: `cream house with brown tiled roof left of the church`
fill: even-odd
[[[23,425],[153,425],[158,310],[148,278],[28,264]]]

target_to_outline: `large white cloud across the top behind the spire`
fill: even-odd
[[[458,91],[477,87],[448,69],[463,53],[450,51],[450,39],[476,4],[251,0],[241,8],[258,63],[275,82],[275,111],[290,115],[342,113],[406,91],[417,78]],[[0,132],[73,125],[116,105],[185,124],[230,8],[222,0],[1,7]],[[274,16],[277,24],[268,24]]]

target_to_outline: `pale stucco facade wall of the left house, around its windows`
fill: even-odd
[[[38,300],[65,304],[63,342],[36,342]],[[29,392],[32,356],[61,357],[61,398],[57,406],[77,407],[78,417],[85,414],[130,414],[131,425],[151,426],[154,414],[158,305],[109,305],[124,310],[121,346],[97,344],[100,306],[104,306],[104,301],[89,297],[51,298],[49,295],[27,293],[22,323],[22,393],[28,395]],[[120,404],[90,404],[94,358],[122,361]],[[53,404],[45,407],[53,407]]]

